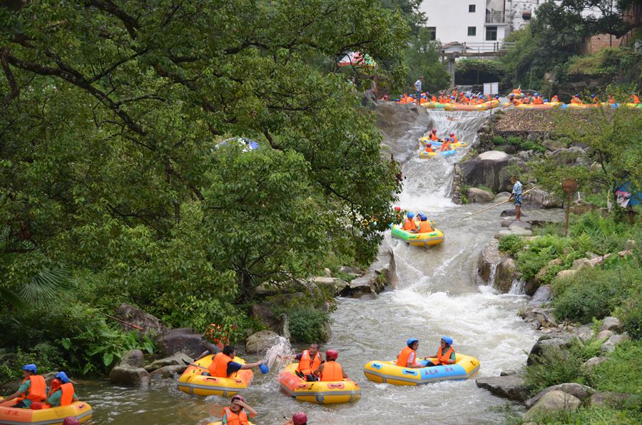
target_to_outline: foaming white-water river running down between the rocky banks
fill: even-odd
[[[486,113],[429,112],[439,135],[457,134],[471,143]],[[457,121],[449,121],[447,117]],[[416,141],[408,150],[417,150]],[[479,286],[475,276],[479,252],[499,231],[500,208],[461,220],[480,205],[450,201],[452,165],[465,154],[432,160],[413,158],[403,168],[402,208],[427,213],[446,240],[431,248],[410,247],[386,236],[394,250],[399,283],[377,297],[339,299],[332,314],[332,338],[322,350],[335,348],[347,374],[362,385],[362,399],[353,404],[319,406],[290,399],[278,390],[276,373],[260,374],[248,391],[256,424],[282,424],[284,416],[303,410],[310,424],[490,424],[504,421],[499,408],[506,401],[478,389],[474,379],[424,386],[374,384],[362,367],[373,359],[394,359],[406,339],[420,339],[419,355],[437,352],[442,335],[454,339],[458,352],[479,359],[478,376],[496,376],[519,369],[538,334],[516,316],[522,295],[498,295]],[[528,218],[544,218],[544,210],[526,210]],[[249,360],[253,361],[250,357]],[[154,380],[149,389],[122,389],[107,382],[88,382],[78,389],[94,409],[92,424],[205,424],[215,419],[218,396],[199,398],[176,389],[175,381]]]

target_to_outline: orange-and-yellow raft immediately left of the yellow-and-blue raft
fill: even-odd
[[[287,365],[279,374],[279,386],[293,399],[317,404],[350,403],[361,398],[361,387],[352,379],[332,382],[307,382],[295,374],[297,363]]]

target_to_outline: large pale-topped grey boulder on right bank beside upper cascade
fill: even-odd
[[[510,185],[511,176],[507,168],[518,163],[521,161],[501,150],[488,150],[477,155],[477,158],[462,163],[464,183],[486,186],[495,193],[501,192]]]

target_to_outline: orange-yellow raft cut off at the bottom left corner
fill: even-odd
[[[16,400],[7,401],[4,404],[16,404]],[[40,410],[16,409],[4,404],[0,399],[0,424],[62,424],[67,416],[73,416],[82,423],[91,419],[93,413],[91,406],[84,401],[74,401],[67,406]]]

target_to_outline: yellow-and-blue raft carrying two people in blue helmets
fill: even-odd
[[[466,354],[455,354],[457,363],[411,369],[397,366],[394,360],[381,362],[373,360],[363,367],[367,379],[379,384],[423,385],[439,381],[461,381],[469,379],[479,371],[479,360]],[[429,358],[430,359],[430,358]],[[427,360],[419,360],[426,364]]]

